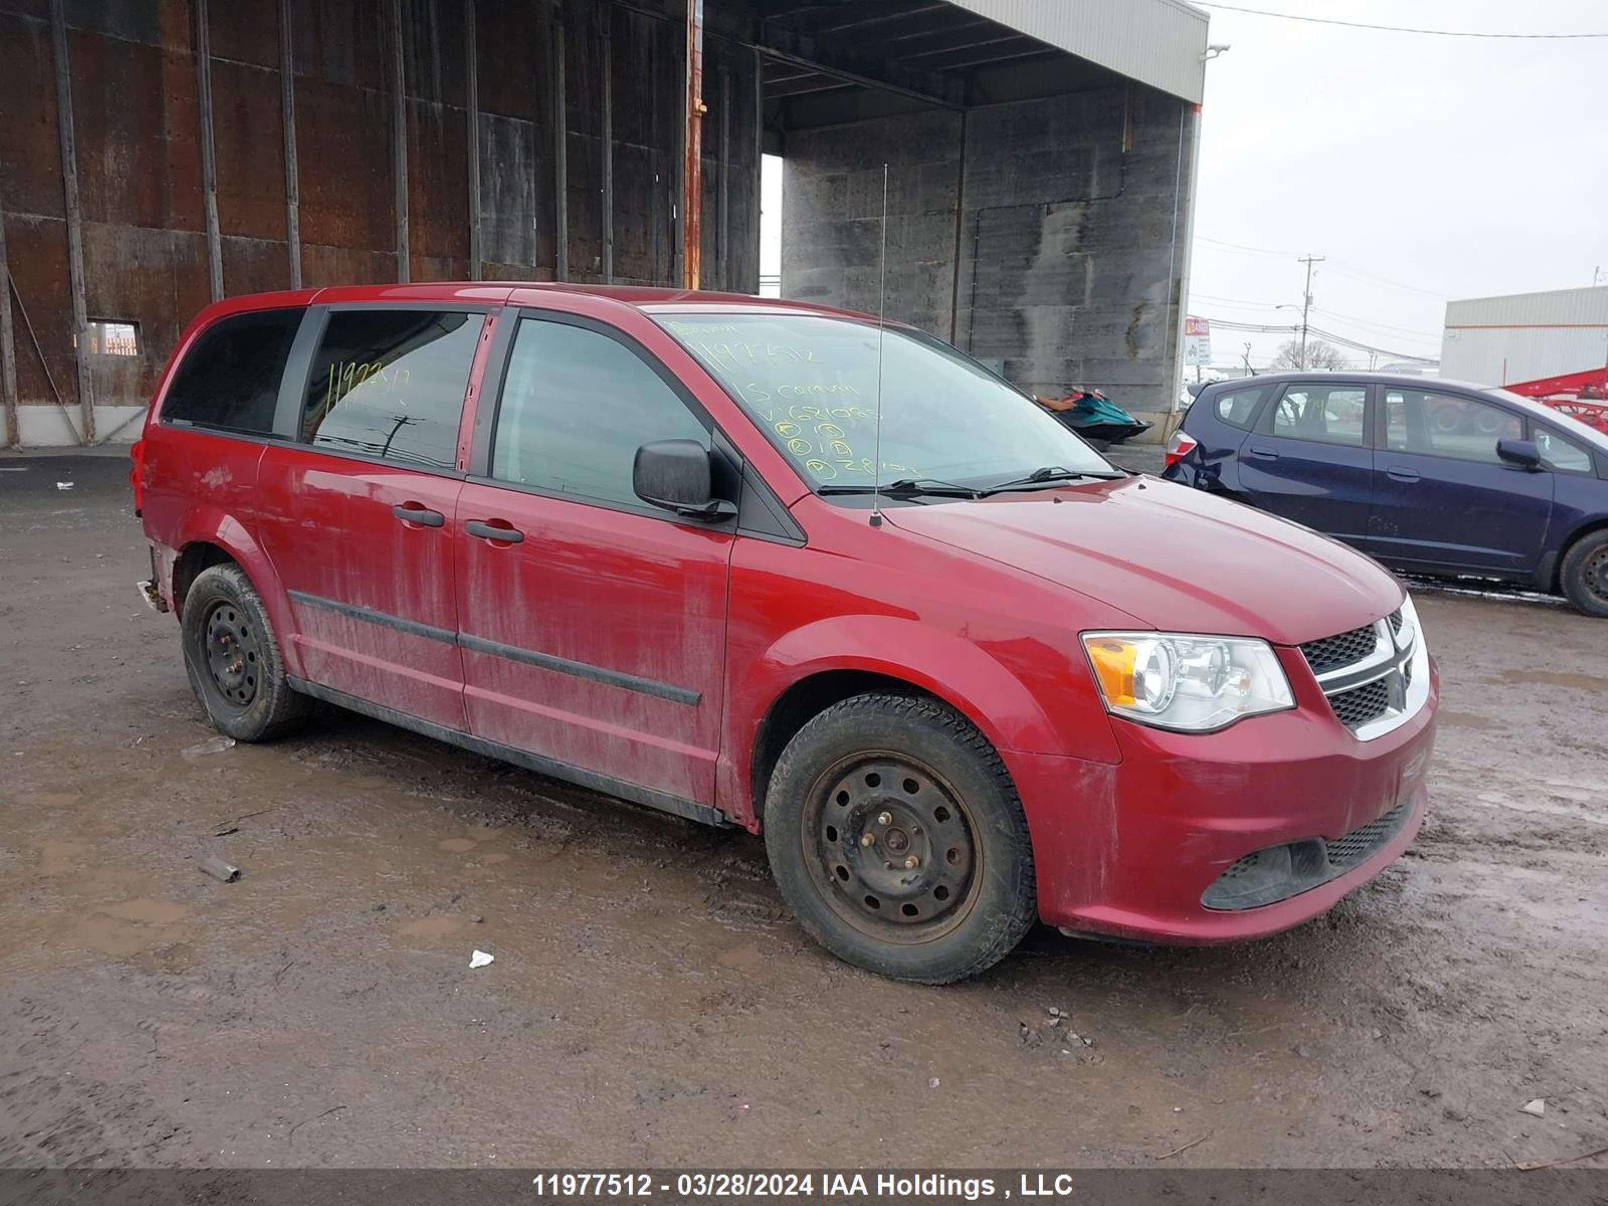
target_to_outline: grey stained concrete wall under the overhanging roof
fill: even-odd
[[[793,132],[781,293],[876,310],[1036,392],[1171,405],[1193,111],[1142,85]]]

